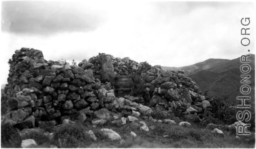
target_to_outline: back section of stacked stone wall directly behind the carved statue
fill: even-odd
[[[123,59],[112,56],[112,64],[114,66],[115,76],[133,75],[135,73],[141,74],[151,69],[151,65],[146,62],[138,63],[131,60],[129,57]],[[91,57],[88,61],[83,60],[78,64],[84,70],[92,69],[93,76],[95,78],[101,78],[101,67],[102,67],[102,54],[96,57]]]

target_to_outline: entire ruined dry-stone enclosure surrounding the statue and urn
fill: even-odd
[[[9,62],[8,111],[1,117],[2,125],[33,128],[39,121],[58,124],[70,115],[82,122],[91,117],[95,123],[131,115],[152,119],[154,112],[198,122],[210,106],[212,99],[201,95],[184,71],[166,72],[159,65],[111,56],[115,76],[137,74],[145,81],[143,98],[117,98],[113,85],[100,81],[102,55],[70,66],[65,61],[44,60],[40,50],[16,50]]]

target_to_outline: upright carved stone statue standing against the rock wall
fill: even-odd
[[[102,55],[102,67],[101,67],[101,79],[103,82],[110,81],[110,78],[114,77],[114,66],[111,61],[111,55]]]

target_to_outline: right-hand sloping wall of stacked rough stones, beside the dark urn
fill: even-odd
[[[183,73],[182,70],[166,72],[157,65],[141,74],[146,82],[144,98],[149,101],[150,107],[158,112],[168,111],[182,116],[203,113],[210,106],[212,99],[201,95],[196,83]],[[150,92],[153,92],[152,97]]]

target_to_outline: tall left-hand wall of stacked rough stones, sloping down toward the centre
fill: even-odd
[[[8,111],[2,124],[33,127],[35,120],[56,120],[70,114],[85,121],[104,109],[119,116],[131,115],[133,110],[150,116],[149,107],[133,102],[143,98],[116,98],[112,87],[110,82],[95,79],[93,70],[65,61],[46,61],[42,51],[21,48],[10,61],[5,88]]]

